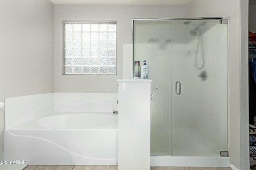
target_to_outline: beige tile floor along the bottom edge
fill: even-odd
[[[118,166],[108,165],[28,165],[23,170],[118,170]],[[232,170],[214,167],[151,167],[150,170]]]

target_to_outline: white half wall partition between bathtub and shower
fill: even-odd
[[[118,80],[118,169],[150,170],[152,80]]]

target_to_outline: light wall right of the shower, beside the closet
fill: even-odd
[[[248,0],[194,0],[189,11],[190,17],[229,17],[230,158],[248,170]]]

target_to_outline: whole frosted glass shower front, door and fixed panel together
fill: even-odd
[[[134,61],[146,60],[154,92],[151,154],[226,155],[228,20],[133,22]]]

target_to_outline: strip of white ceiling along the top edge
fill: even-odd
[[[192,0],[50,0],[68,5],[188,5]]]

